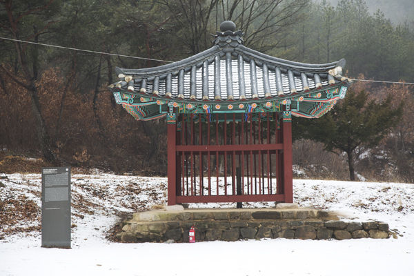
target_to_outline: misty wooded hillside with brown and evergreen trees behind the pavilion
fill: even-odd
[[[351,79],[413,82],[410,2],[1,1],[0,172],[70,165],[165,175],[166,122],[135,121],[115,103],[108,84],[117,80],[116,66],[160,66],[209,48],[210,34],[224,20],[244,32],[245,46],[268,55],[307,63],[344,58]],[[294,119],[296,177],[349,179],[352,171],[351,178],[413,183],[413,89],[354,81],[349,90],[363,104],[344,101],[332,116],[351,112],[345,123],[368,126],[358,121],[364,117],[372,131],[353,134],[356,142],[348,148],[329,146],[317,135],[333,132],[344,116],[326,117],[335,122],[330,125]]]

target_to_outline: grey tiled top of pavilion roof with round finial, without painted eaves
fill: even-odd
[[[224,26],[214,46],[193,57],[154,68],[116,68],[112,92],[184,102],[286,99],[348,86],[345,60],[309,64],[278,59],[243,46],[242,32]],[[230,24],[231,25],[231,24]],[[221,27],[223,24],[221,25]]]

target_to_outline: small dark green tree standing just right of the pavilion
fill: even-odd
[[[331,152],[346,152],[350,179],[355,180],[357,148],[377,146],[402,116],[402,103],[393,108],[391,96],[383,101],[368,99],[364,90],[349,89],[345,99],[319,119],[298,120],[302,137],[320,141]]]

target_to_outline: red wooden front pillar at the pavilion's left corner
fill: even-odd
[[[177,204],[177,179],[176,179],[176,115],[174,113],[167,116],[167,152],[168,152],[168,205]]]

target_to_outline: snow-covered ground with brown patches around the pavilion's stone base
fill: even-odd
[[[119,244],[108,229],[123,213],[165,204],[166,179],[72,175],[72,249],[57,249],[40,247],[40,175],[0,182],[0,275],[414,275],[413,184],[294,180],[300,206],[388,222],[397,239]]]

